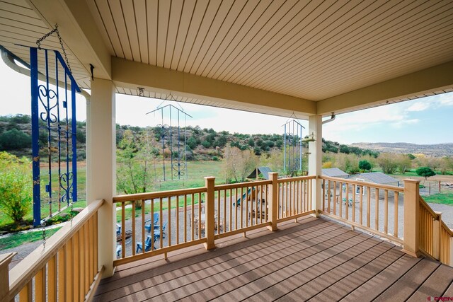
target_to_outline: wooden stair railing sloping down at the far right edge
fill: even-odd
[[[420,197],[420,250],[445,265],[452,265],[453,231],[442,221],[442,214],[433,211]]]

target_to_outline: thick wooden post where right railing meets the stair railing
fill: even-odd
[[[420,180],[404,181],[404,244],[403,252],[413,257],[420,255]]]

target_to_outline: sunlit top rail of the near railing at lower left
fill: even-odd
[[[45,244],[45,248],[40,245],[33,250],[27,257],[9,271],[9,290],[10,297],[14,297],[19,291],[49,262],[58,250],[64,246],[68,240],[79,231],[81,226],[93,216],[102,206],[104,199],[98,199],[88,204],[83,211],[66,223],[57,233],[50,237]]]

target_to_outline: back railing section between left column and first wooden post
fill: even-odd
[[[120,205],[114,265],[205,243],[206,193],[206,187],[198,187],[114,197]]]

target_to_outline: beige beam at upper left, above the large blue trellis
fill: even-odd
[[[28,0],[30,7],[49,28],[58,24],[64,44],[81,62],[88,74],[93,64],[94,76],[111,79],[110,52],[84,0]]]

